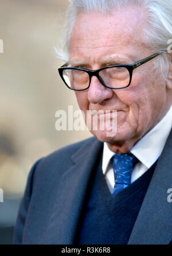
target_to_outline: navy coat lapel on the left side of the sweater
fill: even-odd
[[[45,243],[73,244],[87,188],[97,168],[103,143],[92,138],[73,156],[73,166],[61,178]]]

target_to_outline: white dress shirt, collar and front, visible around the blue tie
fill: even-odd
[[[172,105],[165,117],[153,127],[146,135],[140,139],[131,149],[131,153],[138,158],[139,162],[135,165],[131,174],[131,183],[142,176],[159,158],[169,137],[172,126]],[[107,143],[104,142],[102,169],[108,188],[112,193],[115,185],[114,170],[110,162],[114,156]]]

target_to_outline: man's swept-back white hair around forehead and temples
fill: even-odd
[[[67,28],[65,33],[65,55],[56,49],[58,57],[67,61],[70,52],[70,38],[75,21],[80,13],[112,14],[114,10],[136,5],[146,12],[147,25],[142,28],[143,42],[154,52],[166,51],[169,39],[172,38],[172,0],[69,0],[67,11]],[[153,52],[153,53],[154,53]],[[65,57],[64,57],[65,56]],[[169,71],[169,60],[166,54],[159,57],[156,68],[165,77]]]

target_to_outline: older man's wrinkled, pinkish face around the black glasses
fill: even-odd
[[[132,64],[153,55],[155,52],[142,43],[144,26],[144,11],[139,7],[128,7],[108,16],[81,13],[71,35],[69,60],[72,66],[99,69],[107,65]],[[118,111],[118,130],[114,137],[107,137],[107,130],[92,131],[114,152],[128,152],[161,120],[170,106],[166,83],[158,72],[153,72],[154,61],[158,58],[134,69],[127,88],[106,88],[93,76],[88,90],[76,91],[85,117],[87,110]],[[74,65],[76,62],[80,64]]]

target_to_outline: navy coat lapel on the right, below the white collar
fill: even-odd
[[[169,244],[172,238],[172,132],[158,160],[128,244]]]

